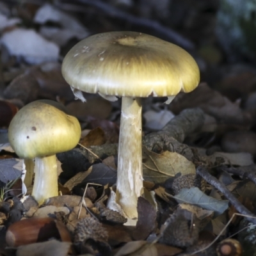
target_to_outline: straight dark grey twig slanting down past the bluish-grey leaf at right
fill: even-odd
[[[239,213],[247,216],[248,221],[256,224],[256,216],[252,214],[252,212],[250,212],[246,207],[244,207],[244,205],[241,204],[234,195],[232,195],[232,193],[225,187],[223,183],[221,183],[218,179],[209,174],[204,166],[198,166],[196,168],[196,173],[199,174],[203,179],[205,179],[209,184],[214,186],[214,188],[218,189],[218,191],[223,193],[225,198],[230,201],[230,203],[236,208]]]

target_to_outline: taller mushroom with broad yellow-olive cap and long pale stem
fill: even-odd
[[[76,97],[80,91],[109,100],[122,97],[116,202],[128,218],[137,218],[143,192],[141,97],[191,92],[199,83],[195,60],[179,46],[137,32],[89,36],[65,56],[62,74]]]

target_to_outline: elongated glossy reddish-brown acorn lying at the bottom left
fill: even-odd
[[[8,246],[17,247],[44,242],[52,237],[71,242],[70,234],[61,221],[54,218],[30,218],[10,225],[6,232],[6,243]]]

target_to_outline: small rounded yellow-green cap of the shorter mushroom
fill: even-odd
[[[80,135],[81,127],[74,116],[40,100],[20,109],[8,130],[13,150],[24,159],[70,150],[76,147]]]

